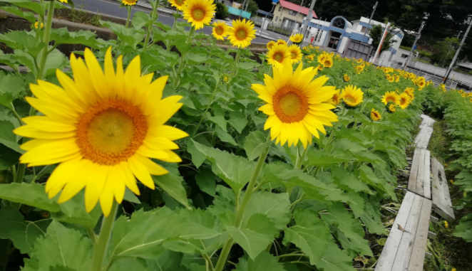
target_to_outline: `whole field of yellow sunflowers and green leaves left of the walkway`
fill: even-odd
[[[172,1],[186,20],[172,27],[155,1],[127,26],[101,21],[117,41],[51,28],[57,1],[9,3],[31,30],[0,35],[14,52],[0,53],[3,270],[375,265],[383,204],[440,88],[299,36],[253,55],[254,25],[210,25],[210,0]]]

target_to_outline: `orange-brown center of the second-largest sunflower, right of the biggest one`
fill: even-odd
[[[275,115],[284,123],[299,122],[308,113],[307,97],[292,86],[279,89],[275,93],[272,103]]]

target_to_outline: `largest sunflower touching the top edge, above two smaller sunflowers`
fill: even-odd
[[[212,0],[186,0],[182,8],[183,18],[198,30],[205,24],[210,24],[215,16],[215,9],[216,6]]]

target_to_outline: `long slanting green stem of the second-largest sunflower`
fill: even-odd
[[[270,140],[270,135],[267,137],[267,140]],[[240,208],[237,209],[236,211],[236,216],[235,216],[235,227],[240,228],[242,218],[244,218],[244,214],[247,208],[247,205],[249,204],[252,194],[255,192],[254,186],[257,181],[257,177],[260,174],[260,171],[262,169],[262,166],[264,165],[264,161],[267,158],[267,154],[269,153],[270,145],[267,147],[264,152],[262,152],[261,156],[259,156],[259,159],[257,160],[256,168],[252,172],[252,176],[250,179],[249,184],[247,185],[245,195],[242,198],[242,202],[240,205]],[[225,245],[223,245],[223,248],[221,250],[220,257],[218,258],[218,261],[215,266],[215,271],[222,271],[223,267],[225,267],[225,263],[227,260],[227,256],[230,254],[230,250],[232,248],[234,240],[228,236],[226,238]]]

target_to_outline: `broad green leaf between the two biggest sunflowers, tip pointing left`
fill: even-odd
[[[225,183],[229,184],[235,193],[239,193],[250,180],[252,170],[255,167],[254,162],[248,161],[241,156],[228,154],[219,149],[206,147],[195,141],[193,144],[212,162],[213,172]]]

